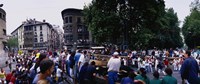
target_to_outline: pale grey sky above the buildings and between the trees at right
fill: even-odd
[[[10,35],[26,19],[46,20],[53,25],[63,26],[61,11],[66,8],[83,9],[92,0],[0,0],[6,11],[7,34]],[[165,0],[166,8],[173,8],[179,20],[190,14],[190,3],[193,0]]]

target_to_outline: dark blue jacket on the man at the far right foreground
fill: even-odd
[[[181,77],[187,79],[189,83],[196,83],[196,79],[198,79],[198,71],[199,66],[197,61],[192,57],[188,57],[185,59],[181,66]]]

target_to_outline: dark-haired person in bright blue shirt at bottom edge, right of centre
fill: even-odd
[[[134,78],[136,74],[134,72],[130,72],[128,77],[122,78],[120,84],[134,84]]]

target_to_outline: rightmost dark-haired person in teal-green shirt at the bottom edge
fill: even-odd
[[[169,67],[165,69],[166,76],[162,79],[162,84],[177,84],[176,78],[172,76],[172,69]]]

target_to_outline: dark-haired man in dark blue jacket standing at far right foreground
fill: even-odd
[[[184,54],[184,58],[185,60],[180,70],[183,82],[200,84],[200,79],[198,78],[199,66],[197,61],[191,57],[191,52],[189,50]]]

